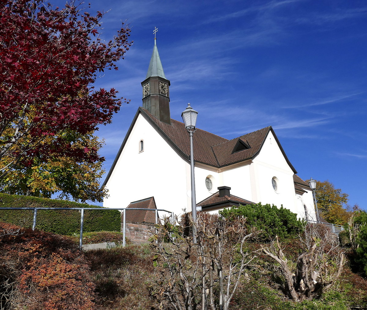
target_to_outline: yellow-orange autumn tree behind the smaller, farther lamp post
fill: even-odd
[[[333,183],[317,181],[315,190],[317,207],[320,215],[331,224],[344,225],[350,218],[348,210],[348,194],[340,188],[335,188]]]

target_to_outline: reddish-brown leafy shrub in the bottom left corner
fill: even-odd
[[[17,234],[0,236],[0,244],[2,309],[94,309],[88,261],[71,239],[18,227]]]

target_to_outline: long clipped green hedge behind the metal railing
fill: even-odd
[[[0,207],[98,208],[90,204],[0,193]],[[0,210],[0,222],[32,227],[33,210]],[[79,210],[37,210],[36,228],[60,235],[80,231]],[[120,231],[118,210],[85,210],[83,231]]]

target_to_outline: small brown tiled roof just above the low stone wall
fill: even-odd
[[[157,209],[154,197],[149,197],[146,199],[134,201],[130,203],[128,208],[143,208],[143,209]],[[126,211],[126,222],[127,223],[155,223],[156,222],[156,212],[148,210],[131,210]],[[121,215],[122,219],[122,215]]]

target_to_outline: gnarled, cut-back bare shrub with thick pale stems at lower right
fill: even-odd
[[[278,237],[262,251],[280,264],[285,278],[284,291],[296,302],[321,296],[338,279],[345,263],[337,238],[323,225],[306,225],[299,236],[303,252],[297,261],[288,261]]]

